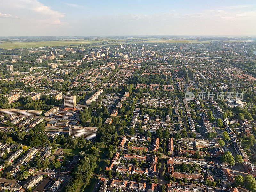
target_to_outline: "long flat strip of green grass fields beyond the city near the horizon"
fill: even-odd
[[[33,41],[33,42],[21,42],[21,41],[2,41],[0,42],[0,48],[15,49],[15,48],[38,48],[38,47],[53,47],[53,46],[81,46],[92,45],[98,43],[95,46],[104,46],[107,44],[123,44],[123,43],[211,43],[212,41],[198,41],[198,40],[186,40],[186,39],[94,39],[94,40],[59,40],[59,41]]]

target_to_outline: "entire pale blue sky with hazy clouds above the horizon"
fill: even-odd
[[[0,0],[0,36],[255,36],[256,1]]]

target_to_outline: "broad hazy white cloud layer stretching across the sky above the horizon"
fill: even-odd
[[[0,36],[30,35],[256,35],[256,10],[244,5],[209,10],[173,10],[156,14],[84,15],[84,6],[63,3],[70,14],[38,0],[2,0]],[[63,5],[62,4],[62,5]],[[100,5],[99,5],[100,6]],[[72,11],[81,14],[75,16]],[[72,16],[70,16],[72,15]],[[73,18],[74,16],[74,18]],[[17,20],[9,18],[18,17]],[[64,18],[65,17],[65,18]],[[19,30],[16,30],[19,29]]]

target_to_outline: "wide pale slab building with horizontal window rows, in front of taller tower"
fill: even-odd
[[[70,137],[83,137],[84,139],[96,139],[97,127],[78,127],[69,128]]]

